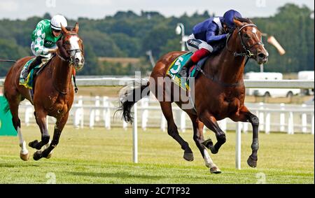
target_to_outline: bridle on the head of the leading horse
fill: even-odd
[[[231,52],[235,57],[245,57],[247,56],[248,58],[256,57],[257,51],[255,53],[251,52],[251,48],[255,45],[264,45],[262,41],[260,40],[258,43],[255,43],[250,46],[246,46],[243,41],[243,37],[241,36],[241,30],[244,29],[245,27],[257,27],[255,24],[245,24],[241,28],[239,28],[239,31],[237,31],[237,35],[241,38],[241,46],[244,48],[245,52],[234,52],[228,48],[228,42],[230,41],[230,37],[232,34],[226,39],[225,47],[228,49],[229,52]]]

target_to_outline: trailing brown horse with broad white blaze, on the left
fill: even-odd
[[[18,131],[20,139],[20,157],[22,160],[29,159],[26,143],[22,138],[21,122],[18,117],[20,101],[28,99],[34,105],[34,115],[37,125],[41,129],[41,141],[29,143],[31,148],[36,148],[34,160],[42,157],[49,158],[58,142],[62,129],[68,120],[69,111],[73,103],[73,87],[71,76],[74,69],[81,69],[84,64],[83,41],[78,36],[78,23],[73,29],[62,27],[62,39],[58,41],[58,50],[55,57],[45,66],[43,71],[34,79],[34,97],[31,98],[29,89],[19,85],[22,67],[31,57],[19,59],[8,71],[4,82],[4,96],[12,113],[13,126]],[[57,119],[55,131],[50,142],[50,135],[46,125],[46,116],[50,115]],[[41,148],[44,150],[41,151]]]

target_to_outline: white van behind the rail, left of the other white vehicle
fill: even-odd
[[[248,80],[282,80],[282,73],[277,72],[248,72],[245,73]],[[248,88],[246,94],[264,97],[293,97],[300,94],[300,89],[272,89],[272,88]]]

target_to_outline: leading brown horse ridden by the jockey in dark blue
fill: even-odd
[[[218,126],[217,120],[230,118],[235,122],[251,122],[253,126],[252,153],[248,157],[248,165],[256,167],[258,152],[258,125],[257,116],[253,115],[244,106],[245,87],[243,80],[245,57],[255,59],[258,64],[267,62],[268,52],[265,50],[261,36],[262,33],[255,24],[248,19],[235,19],[236,28],[226,41],[225,48],[217,55],[211,55],[205,62],[204,70],[195,80],[194,90],[195,101],[187,99],[188,92],[176,96],[174,83],[171,83],[171,91],[167,89],[167,76],[169,65],[176,57],[185,52],[169,52],[164,55],[155,65],[148,81],[142,81],[141,85],[133,85],[130,89],[124,90],[120,95],[120,110],[123,111],[123,118],[132,121],[131,108],[137,100],[151,92],[160,101],[162,113],[167,119],[167,132],[172,136],[184,150],[183,158],[193,161],[193,152],[188,143],[184,141],[174,122],[172,113],[172,102],[175,101],[179,107],[188,113],[193,122],[193,139],[199,148],[206,166],[211,173],[220,173],[220,169],[212,162],[206,147],[211,153],[218,153],[219,148],[225,143],[225,133]],[[159,80],[163,78],[164,80]],[[159,91],[162,90],[162,91]],[[137,97],[137,92],[141,93]],[[162,94],[162,97],[161,97]],[[135,98],[137,97],[137,98]],[[167,100],[167,99],[171,100]],[[178,100],[174,100],[177,98]],[[185,104],[193,103],[190,108],[183,108]],[[194,108],[195,107],[195,108]],[[216,134],[217,143],[214,145],[210,140],[204,141],[203,127],[206,125]]]

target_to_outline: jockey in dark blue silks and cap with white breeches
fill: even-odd
[[[210,17],[204,22],[200,22],[193,27],[193,34],[188,37],[187,48],[194,54],[188,62],[183,66],[181,75],[188,78],[188,69],[194,64],[197,64],[200,59],[206,57],[211,52],[216,52],[221,48],[219,43],[225,41],[229,33],[235,29],[233,19],[241,17],[241,14],[236,10],[228,10],[223,17]]]

